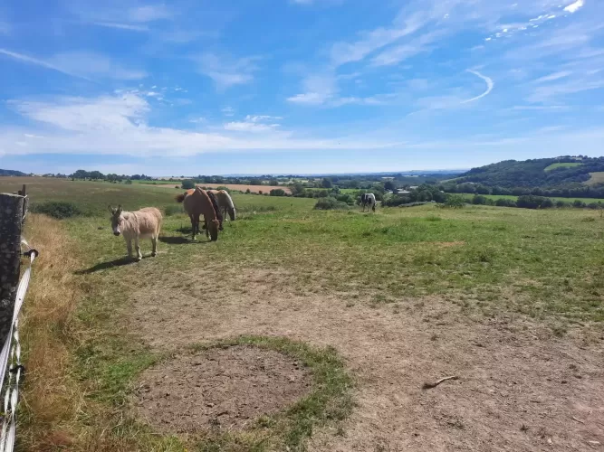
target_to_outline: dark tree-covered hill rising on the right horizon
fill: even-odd
[[[448,181],[453,184],[484,184],[504,188],[576,188],[590,181],[592,173],[604,172],[604,157],[556,157],[525,160],[505,160],[497,164],[473,168]]]

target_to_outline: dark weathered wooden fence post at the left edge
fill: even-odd
[[[21,270],[24,199],[18,194],[0,193],[0,347],[13,324]]]

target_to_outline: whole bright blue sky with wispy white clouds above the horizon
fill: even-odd
[[[0,167],[153,175],[602,155],[601,0],[8,0]]]

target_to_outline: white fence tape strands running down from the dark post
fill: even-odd
[[[25,198],[24,205],[27,205]],[[24,209],[23,220],[27,213]],[[25,293],[29,287],[32,275],[32,264],[38,256],[38,251],[29,246],[26,240],[21,240],[24,248],[24,256],[29,258],[29,264],[17,286],[14,301],[13,323],[9,334],[6,336],[5,344],[0,352],[0,393],[4,394],[4,409],[2,412],[2,430],[0,435],[0,452],[12,452],[14,450],[14,438],[16,427],[16,410],[19,401],[19,383],[24,377],[24,365],[21,363],[21,343],[19,342],[19,313],[24,303]],[[8,370],[8,374],[6,374]],[[2,399],[0,399],[2,400]]]

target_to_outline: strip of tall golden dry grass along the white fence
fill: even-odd
[[[72,444],[83,393],[71,372],[69,341],[80,293],[73,280],[75,253],[60,222],[31,215],[26,236],[40,251],[24,302],[22,337],[27,374],[19,439],[23,450]]]

